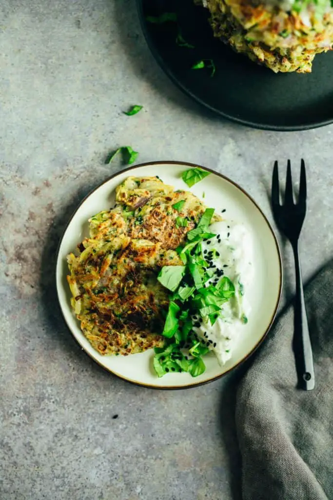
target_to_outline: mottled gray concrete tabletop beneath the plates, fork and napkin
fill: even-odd
[[[144,111],[122,114],[134,103]],[[270,219],[273,160],[304,157],[307,279],[333,253],[332,131],[266,132],[208,113],[155,63],[134,0],[0,0],[1,500],[240,498],[231,377],[163,392],[94,364],[59,314],[58,238],[82,197],[122,168],[103,161],[123,144],[141,162],[225,173]]]

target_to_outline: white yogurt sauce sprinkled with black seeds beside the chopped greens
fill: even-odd
[[[248,302],[247,290],[254,277],[253,240],[244,224],[223,220],[209,227],[216,236],[202,242],[204,257],[215,249],[219,255],[213,258],[217,269],[222,269],[235,286],[235,296],[221,306],[222,313],[214,325],[210,320],[203,320],[200,327],[193,330],[206,345],[212,349],[219,362],[224,364],[231,358],[232,349],[242,334],[244,324],[250,320],[251,306]],[[206,251],[205,251],[206,250]],[[209,282],[213,282],[213,275]],[[221,279],[221,278],[220,278]],[[196,320],[193,319],[196,323]],[[211,342],[209,342],[211,340]]]

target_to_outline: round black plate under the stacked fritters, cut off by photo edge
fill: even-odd
[[[226,118],[270,130],[304,130],[333,122],[333,51],[317,55],[310,74],[278,73],[214,39],[207,9],[193,0],[137,0],[147,43],[161,67],[187,94]],[[153,24],[147,15],[176,12],[186,41],[175,43],[175,23]],[[191,69],[213,59],[216,73]]]

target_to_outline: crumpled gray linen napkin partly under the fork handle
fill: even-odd
[[[291,306],[238,389],[243,500],[333,499],[333,262],[305,297],[315,389],[296,388]]]

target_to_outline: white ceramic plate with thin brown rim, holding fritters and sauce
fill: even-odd
[[[108,371],[130,382],[157,388],[185,388],[212,381],[244,361],[265,338],[275,318],[282,289],[281,255],[277,239],[263,212],[255,201],[237,184],[228,178],[212,172],[191,191],[199,198],[205,192],[205,204],[214,207],[218,213],[226,209],[225,218],[243,222],[252,232],[255,251],[253,265],[255,285],[248,291],[252,313],[244,325],[242,341],[234,348],[232,358],[220,366],[214,354],[205,356],[206,371],[193,378],[188,373],[168,373],[158,378],[153,369],[152,349],[129,356],[102,356],[82,334],[79,322],[70,307],[70,291],[66,281],[68,272],[66,255],[88,234],[88,218],[114,204],[115,187],[128,175],[158,175],[175,189],[186,189],[181,173],[198,165],[160,161],[127,168],[96,187],[79,205],[72,215],[60,241],[57,264],[56,286],[60,307],[65,321],[81,347],[97,363]],[[202,167],[204,168],[204,167]],[[208,169],[207,169],[208,170]]]

